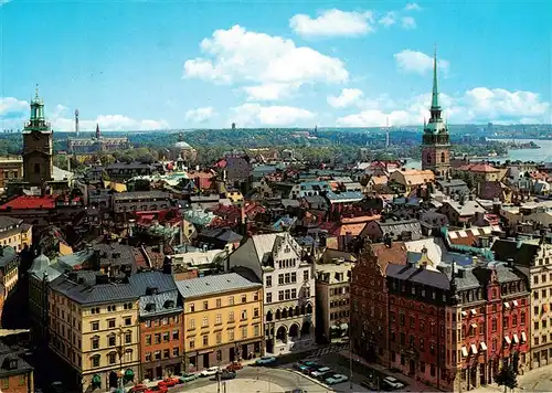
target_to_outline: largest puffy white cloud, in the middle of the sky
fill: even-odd
[[[216,30],[201,50],[205,56],[187,61],[183,77],[245,85],[251,98],[279,99],[304,84],[349,78],[339,59],[240,25]]]

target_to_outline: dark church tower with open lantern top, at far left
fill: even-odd
[[[36,88],[31,99],[31,118],[23,128],[23,179],[32,187],[43,187],[53,180],[53,131]]]

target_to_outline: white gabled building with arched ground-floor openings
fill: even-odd
[[[314,265],[288,233],[250,237],[230,255],[229,267],[248,268],[263,283],[267,353],[315,344]]]

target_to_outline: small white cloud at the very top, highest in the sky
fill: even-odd
[[[358,36],[373,31],[370,11],[325,10],[317,18],[299,13],[289,20],[291,30],[304,36]]]

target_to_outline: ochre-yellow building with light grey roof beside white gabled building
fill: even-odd
[[[263,285],[236,274],[177,282],[184,307],[184,368],[263,354]]]

